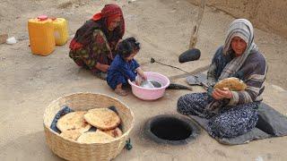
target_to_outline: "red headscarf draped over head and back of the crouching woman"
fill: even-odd
[[[120,22],[117,28],[113,31],[108,30],[109,21],[120,17]],[[70,48],[76,49],[92,43],[93,30],[102,30],[108,39],[111,41],[118,41],[125,34],[125,20],[122,10],[117,4],[106,4],[100,13],[92,16],[90,21],[86,21],[83,26],[76,31],[74,39],[70,44]]]

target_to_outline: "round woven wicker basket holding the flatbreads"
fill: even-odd
[[[108,143],[85,144],[66,140],[49,128],[55,115],[63,106],[69,106],[74,111],[116,106],[117,113],[121,118],[123,135]],[[128,106],[115,97],[95,93],[74,93],[59,97],[46,108],[44,113],[44,131],[48,147],[57,156],[67,160],[110,160],[117,157],[126,145],[128,134],[133,129],[134,122],[134,114]]]

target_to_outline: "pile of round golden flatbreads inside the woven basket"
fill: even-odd
[[[119,116],[109,108],[94,108],[65,114],[57,121],[60,136],[81,143],[106,143],[120,137],[123,132],[117,127]],[[91,126],[97,131],[89,131]]]

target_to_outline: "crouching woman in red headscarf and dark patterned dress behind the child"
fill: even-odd
[[[75,64],[106,80],[117,43],[124,36],[125,21],[117,4],[107,4],[76,31],[69,56]]]

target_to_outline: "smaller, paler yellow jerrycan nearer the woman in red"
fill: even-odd
[[[54,24],[54,36],[57,46],[65,45],[68,39],[68,27],[64,18],[52,19]]]

